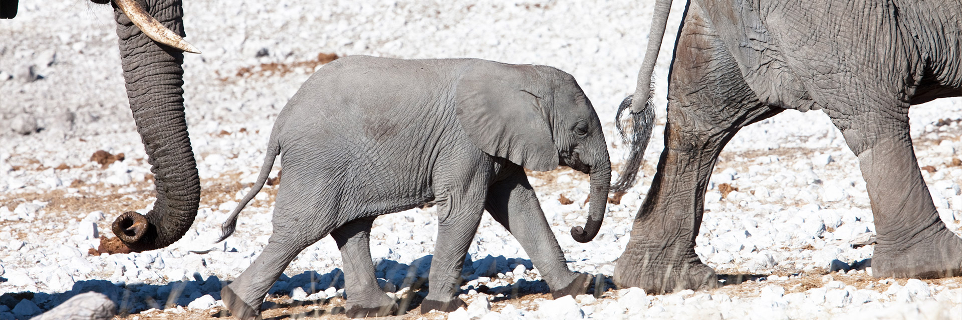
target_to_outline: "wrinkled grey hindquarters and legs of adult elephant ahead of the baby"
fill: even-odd
[[[670,7],[656,4],[652,39]],[[878,241],[873,276],[962,274],[962,239],[939,219],[908,124],[909,106],[962,95],[960,24],[957,1],[689,3],[671,64],[666,148],[615,283],[647,292],[717,284],[694,251],[712,168],[739,129],[786,109],[822,109],[858,156]],[[649,50],[644,64],[656,56]],[[649,77],[643,68],[635,97]]]

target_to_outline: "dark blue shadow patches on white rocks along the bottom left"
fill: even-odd
[[[416,258],[411,263],[400,263],[391,259],[377,259],[375,261],[375,276],[378,283],[385,291],[396,292],[404,287],[416,294],[409,295],[409,299],[401,302],[401,309],[404,311],[417,308],[420,301],[427,295],[427,279],[430,274],[431,260],[433,255],[426,255]],[[487,286],[490,283],[471,283],[481,277],[496,278],[498,274],[508,274],[513,272],[521,265],[525,270],[532,270],[533,265],[527,258],[505,258],[504,256],[487,256],[477,260],[472,260],[470,256],[465,257],[464,268],[462,269],[462,279],[468,283],[468,287],[462,289],[461,293],[468,293],[474,290],[480,293],[487,293],[494,296],[494,301],[502,301],[523,297],[529,294],[548,293],[549,288],[544,281],[528,281],[526,279],[511,279],[510,282],[498,283],[494,287]],[[86,280],[74,283],[73,287],[66,292],[44,293],[44,292],[16,292],[0,295],[0,320],[6,320],[13,314],[13,309],[19,304],[32,305],[33,312],[29,314],[13,314],[16,318],[27,318],[39,314],[42,311],[55,308],[63,304],[67,299],[85,292],[99,292],[109,297],[119,308],[118,314],[138,313],[140,311],[156,308],[165,309],[177,306],[187,307],[191,302],[210,295],[213,301],[220,300],[220,289],[227,283],[221,282],[216,276],[204,278],[199,273],[194,273],[193,280],[177,281],[163,285],[146,283],[123,283],[110,282],[106,280]],[[320,274],[315,271],[305,271],[295,276],[282,274],[281,277],[271,286],[268,294],[272,296],[291,295],[297,288],[303,290],[307,295],[325,291],[328,288],[342,289],[344,285],[343,272],[340,268]],[[299,291],[299,290],[297,290]],[[299,297],[298,297],[299,298]],[[291,305],[303,305],[312,302],[299,302],[291,300]],[[285,304],[286,305],[286,304]],[[30,307],[30,306],[27,306]],[[211,306],[213,307],[213,305]],[[278,306],[286,307],[286,306]],[[9,308],[9,309],[7,309]],[[5,310],[6,309],[6,310]]]

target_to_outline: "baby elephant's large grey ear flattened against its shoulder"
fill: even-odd
[[[558,166],[542,110],[550,90],[534,67],[474,62],[455,90],[458,121],[481,151],[535,171]]]

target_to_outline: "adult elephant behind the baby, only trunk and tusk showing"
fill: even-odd
[[[90,0],[98,4],[110,0]],[[0,17],[16,15],[16,0],[0,5]],[[200,179],[184,117],[180,0],[114,0],[127,96],[154,173],[157,201],[144,215],[128,211],[114,221],[114,234],[132,251],[164,248],[180,239],[197,215]]]

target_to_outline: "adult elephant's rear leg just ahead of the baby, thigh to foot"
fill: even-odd
[[[660,293],[717,285],[695,253],[712,169],[741,128],[782,111],[758,101],[706,21],[688,11],[677,38],[665,150],[615,269],[621,287]]]

